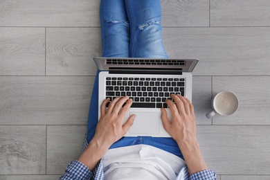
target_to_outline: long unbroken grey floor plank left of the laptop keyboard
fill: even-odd
[[[93,77],[0,77],[1,125],[86,125]]]

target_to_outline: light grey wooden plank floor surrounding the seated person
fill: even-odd
[[[219,179],[270,179],[270,1],[161,0],[170,57],[198,58],[197,136]],[[57,179],[77,159],[101,55],[98,0],[0,0],[0,179]],[[233,116],[205,117],[219,91]]]

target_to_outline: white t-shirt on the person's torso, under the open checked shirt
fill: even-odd
[[[105,179],[176,179],[183,159],[150,145],[108,150],[102,158]]]

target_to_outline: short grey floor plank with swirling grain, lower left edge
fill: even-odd
[[[0,174],[46,173],[46,126],[0,125]]]

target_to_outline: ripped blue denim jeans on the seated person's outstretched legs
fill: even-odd
[[[102,57],[168,58],[161,36],[159,0],[101,0],[100,25]],[[87,142],[93,138],[98,123],[98,73],[93,85],[87,125]],[[128,145],[152,145],[183,159],[172,138],[150,136],[123,137],[111,148]]]

